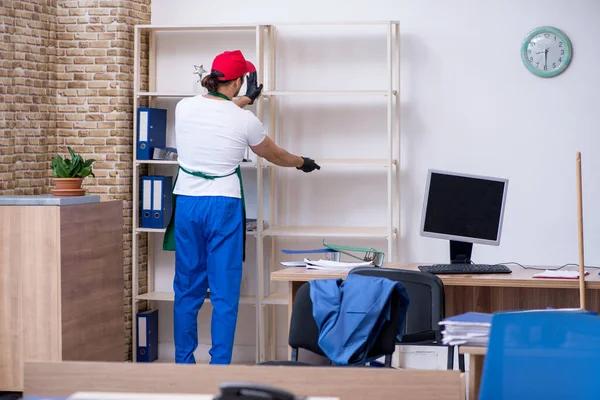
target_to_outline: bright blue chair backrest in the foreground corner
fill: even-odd
[[[479,399],[599,399],[600,318],[579,311],[492,318]]]

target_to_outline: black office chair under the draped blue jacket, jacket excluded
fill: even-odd
[[[369,351],[368,358],[385,357],[384,367],[391,368],[392,354],[395,351],[396,334],[400,324],[400,299],[396,293],[392,295],[392,319],[384,324],[373,347]],[[304,283],[296,292],[292,307],[290,320],[290,332],[288,344],[292,348],[291,361],[265,361],[258,365],[293,365],[293,366],[315,366],[313,364],[298,361],[298,351],[304,349],[327,358],[321,347],[319,347],[319,330],[313,318],[313,303],[310,298],[310,282]],[[330,362],[330,365],[332,363]],[[335,365],[338,366],[338,365]],[[355,367],[340,366],[340,367]]]

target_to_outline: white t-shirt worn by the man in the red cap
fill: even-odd
[[[266,137],[260,120],[232,101],[195,96],[175,108],[175,141],[179,165],[192,172],[230,176],[204,179],[179,171],[174,193],[188,196],[241,197],[235,169],[248,146]]]

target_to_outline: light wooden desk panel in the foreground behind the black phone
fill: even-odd
[[[458,371],[117,362],[26,362],[26,397],[75,392],[207,393],[223,382],[278,387],[298,396],[340,400],[464,400]]]

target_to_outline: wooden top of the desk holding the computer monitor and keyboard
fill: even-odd
[[[389,263],[386,268],[399,268],[409,271],[418,271],[419,265],[431,263]],[[512,274],[473,274],[473,275],[438,275],[445,286],[488,286],[488,287],[522,287],[522,288],[550,288],[550,289],[578,289],[578,279],[546,279],[533,278],[533,275],[543,272],[545,268],[555,269],[557,267],[535,266],[538,269],[523,269],[519,266],[507,265]],[[541,269],[541,270],[540,270]],[[565,267],[564,270],[577,269],[577,267]],[[598,270],[589,270],[590,274],[585,277],[586,289],[600,289],[600,275]],[[344,279],[347,271],[324,271],[318,269],[307,269],[304,267],[290,267],[271,273],[272,281],[294,281],[307,282],[314,279]]]

